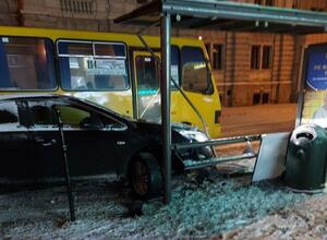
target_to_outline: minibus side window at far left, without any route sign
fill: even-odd
[[[0,89],[41,91],[56,87],[50,39],[0,36]]]

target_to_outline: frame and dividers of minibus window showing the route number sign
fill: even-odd
[[[89,56],[89,55],[60,55],[59,53],[59,43],[60,41],[64,41],[64,43],[81,43],[81,44],[92,44],[92,48],[93,48],[93,53],[95,53],[95,48],[94,48],[94,44],[118,44],[118,45],[123,45],[124,46],[124,53],[125,57],[107,57],[107,56]],[[58,59],[58,79],[59,79],[59,85],[60,88],[63,89],[64,92],[68,93],[80,93],[80,92],[125,92],[125,91],[130,91],[132,89],[132,83],[131,83],[131,69],[130,69],[130,58],[129,58],[129,47],[124,41],[106,41],[106,40],[93,40],[93,39],[75,39],[75,38],[58,38],[56,39],[56,57]],[[69,89],[63,87],[63,79],[62,79],[62,72],[61,72],[61,63],[60,63],[60,58],[70,58],[70,57],[76,57],[76,58],[85,58],[85,57],[90,57],[90,58],[97,58],[97,59],[124,59],[125,60],[125,68],[126,68],[126,87],[125,88],[114,88],[114,89]]]

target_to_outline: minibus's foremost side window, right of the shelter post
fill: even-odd
[[[207,62],[202,48],[183,47],[181,51],[181,62],[183,89],[206,93],[211,88]]]

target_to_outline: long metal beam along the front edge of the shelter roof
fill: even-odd
[[[216,0],[162,0],[162,12],[170,14],[226,17],[232,20],[288,23],[294,25],[320,26],[326,29],[326,14],[319,12],[263,7],[258,4],[240,4]]]

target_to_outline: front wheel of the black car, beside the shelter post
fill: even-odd
[[[138,154],[130,165],[130,183],[141,199],[161,195],[162,173],[157,159],[149,153]]]

